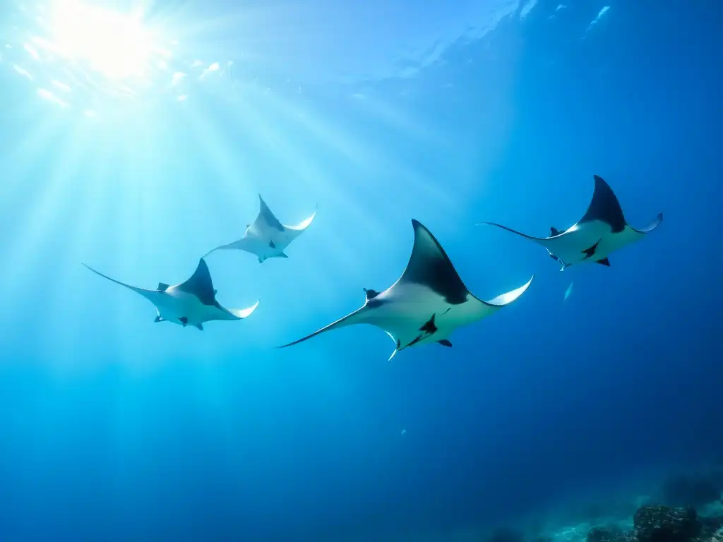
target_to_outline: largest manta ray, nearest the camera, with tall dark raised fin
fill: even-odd
[[[372,324],[385,331],[396,345],[389,359],[404,348],[426,343],[451,347],[448,337],[456,328],[489,316],[529,288],[532,278],[520,288],[492,301],[476,298],[462,282],[435,236],[417,220],[412,220],[412,225],[414,247],[411,257],[393,285],[382,292],[364,288],[367,300],[360,309],[279,348],[352,324]]]

